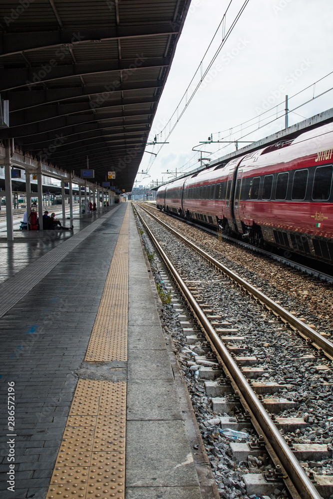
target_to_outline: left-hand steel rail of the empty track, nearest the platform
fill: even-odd
[[[216,334],[214,328],[206,318],[205,314],[201,310],[200,306],[196,302],[195,298],[193,297],[192,293],[186,286],[185,282],[180,277],[176,268],[173,266],[170,259],[168,258],[168,256],[166,255],[166,253],[164,252],[164,250],[162,249],[162,247],[160,246],[155,236],[153,235],[153,233],[151,232],[151,230],[149,229],[149,227],[147,226],[147,224],[145,223],[145,221],[143,220],[142,216],[138,211],[137,214],[143,226],[145,227],[149,237],[153,241],[158,252],[162,256],[163,260],[165,261],[166,265],[168,266],[172,275],[177,281],[184,296],[190,303],[190,306],[193,309],[196,316],[198,317],[199,322],[205,329],[212,344],[214,345],[222,361],[226,365],[226,368],[228,369],[228,371],[231,374],[231,377],[234,379],[236,385],[238,386],[240,393],[243,395],[246,403],[253,412],[256,420],[258,421],[263,431],[263,434],[265,435],[266,439],[269,441],[270,445],[272,446],[274,452],[276,453],[278,459],[281,461],[284,468],[288,470],[289,478],[292,480],[293,485],[295,486],[297,492],[300,494],[302,499],[322,499],[321,495],[317,492],[315,486],[313,485],[310,478],[303,470],[297,458],[294,456],[293,452],[288,447],[288,444],[286,443],[285,439],[282,437],[279,430],[277,429],[277,427],[269,417],[267,411],[264,409],[264,406],[258,400],[257,395],[249,385],[248,381],[246,380],[243,373],[237,366],[236,362],[233,360],[227,348],[225,347],[219,336]]]

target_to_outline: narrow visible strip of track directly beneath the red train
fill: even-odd
[[[142,206],[142,205],[140,205],[140,206]],[[153,210],[156,210],[156,212],[159,212],[159,210],[154,205],[149,204],[147,206],[149,206]],[[249,243],[246,243],[245,241],[240,241],[239,239],[232,238],[231,236],[225,236],[224,234],[219,234],[216,231],[214,231],[213,229],[206,227],[205,225],[197,224],[197,223],[192,222],[190,220],[185,220],[181,217],[178,217],[174,213],[168,212],[166,214],[168,215],[168,217],[172,217],[176,220],[180,220],[181,222],[183,222],[189,226],[196,227],[196,228],[200,229],[201,231],[207,232],[208,234],[212,234],[213,236],[219,237],[225,241],[229,241],[235,245],[242,246],[243,248],[247,248],[249,250],[255,251],[256,253],[260,253],[264,256],[267,256],[269,258],[272,258],[272,259],[275,259],[275,260],[280,261],[282,263],[285,263],[286,265],[297,268],[297,269],[301,270],[302,272],[306,272],[308,274],[314,275],[314,276],[318,277],[319,279],[323,279],[323,280],[326,280],[330,283],[333,283],[333,268],[329,264],[325,264],[324,262],[319,262],[319,263],[315,262],[312,258],[305,257],[305,256],[302,257],[300,254],[297,254],[297,253],[294,253],[294,259],[290,259],[290,258],[287,258],[285,256],[279,255],[277,253],[274,253],[274,252],[271,252],[268,250],[263,250],[263,249],[258,248],[256,246],[250,245]],[[286,252],[286,251],[284,250],[284,252]],[[288,251],[288,253],[293,254],[291,251]],[[299,261],[300,259],[306,260],[306,262],[309,264],[306,264],[304,262]],[[317,268],[310,266],[311,263],[313,263],[313,265],[316,266]],[[330,268],[331,273],[324,271],[323,267]]]

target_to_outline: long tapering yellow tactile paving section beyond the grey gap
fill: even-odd
[[[127,360],[128,229],[129,207],[127,207],[113,252],[84,359],[88,362]]]

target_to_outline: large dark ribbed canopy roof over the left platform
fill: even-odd
[[[0,139],[131,191],[189,4],[1,1]]]

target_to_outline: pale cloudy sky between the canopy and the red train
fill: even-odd
[[[195,74],[229,2],[230,0],[192,0],[153,122],[151,140],[155,134],[159,134],[158,141],[165,140],[177,121],[176,113],[167,124]],[[244,0],[232,1],[226,16],[225,32],[232,25],[243,3]],[[200,141],[207,140],[211,133],[213,140],[254,141],[283,129],[285,118],[282,114],[286,94],[290,98],[289,109],[295,109],[311,100],[290,113],[289,125],[333,107],[333,90],[313,99],[333,87],[333,74],[318,82],[315,87],[313,85],[333,71],[332,19],[332,0],[250,0],[168,138],[170,143],[160,149],[156,158],[151,154],[144,154],[139,171],[148,170],[150,177],[138,175],[135,185],[149,185],[152,180],[161,181],[162,177],[165,181],[168,176],[163,172],[167,169],[174,172],[177,168],[178,172],[184,172],[199,166],[200,153],[193,152],[192,148],[199,145]],[[203,60],[203,73],[222,39],[223,26]],[[189,99],[200,79],[201,70],[181,102],[178,116],[184,109],[185,99]],[[310,85],[308,90],[291,98]],[[273,111],[261,114],[272,108]],[[277,112],[282,117],[275,120]],[[272,123],[262,127],[272,120]],[[249,135],[245,137],[245,134]],[[148,146],[146,149],[157,153],[158,147],[160,146]],[[211,144],[198,148],[214,153],[210,156],[213,161],[234,151],[235,144]],[[155,159],[151,164],[153,158]]]

